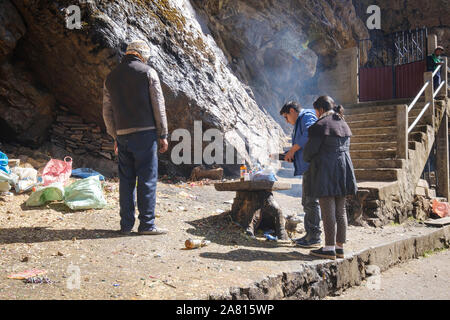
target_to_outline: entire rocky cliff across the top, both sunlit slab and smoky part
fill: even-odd
[[[337,50],[368,36],[365,10],[377,3],[386,31],[425,24],[448,46],[444,0],[2,0],[0,140],[48,141],[58,106],[103,125],[103,81],[126,43],[144,38],[170,132],[192,134],[194,121],[202,121],[203,130],[221,130],[240,155],[251,146],[262,158],[284,136],[280,124],[291,129],[280,106],[295,99],[311,107],[327,93],[318,79],[327,80],[321,74],[334,67]],[[80,30],[66,25],[74,4]]]

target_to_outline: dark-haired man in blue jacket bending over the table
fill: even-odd
[[[299,103],[287,102],[280,110],[280,115],[287,123],[294,125],[292,134],[292,148],[286,153],[285,161],[294,163],[294,176],[303,175],[302,182],[302,206],[305,212],[306,235],[295,242],[303,248],[314,248],[320,246],[320,206],[319,199],[307,196],[305,186],[309,179],[309,164],[303,160],[303,148],[308,141],[308,128],[317,121],[313,109],[303,109]],[[306,192],[306,193],[305,193]]]

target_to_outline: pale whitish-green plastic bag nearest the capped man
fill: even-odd
[[[106,200],[99,176],[78,180],[67,186],[64,203],[72,210],[104,208]]]

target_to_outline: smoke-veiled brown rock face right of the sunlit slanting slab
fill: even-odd
[[[350,0],[193,3],[232,69],[281,125],[281,105],[293,99],[311,108],[315,96],[326,94],[317,89],[317,79],[333,66],[336,50],[354,47],[355,39],[368,35]]]

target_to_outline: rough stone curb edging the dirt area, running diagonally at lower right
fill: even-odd
[[[450,225],[417,237],[409,237],[354,252],[335,261],[305,263],[298,271],[268,276],[250,287],[234,287],[225,294],[210,294],[210,300],[321,299],[343,289],[360,285],[378,266],[381,271],[423,256],[425,252],[448,248]]]

